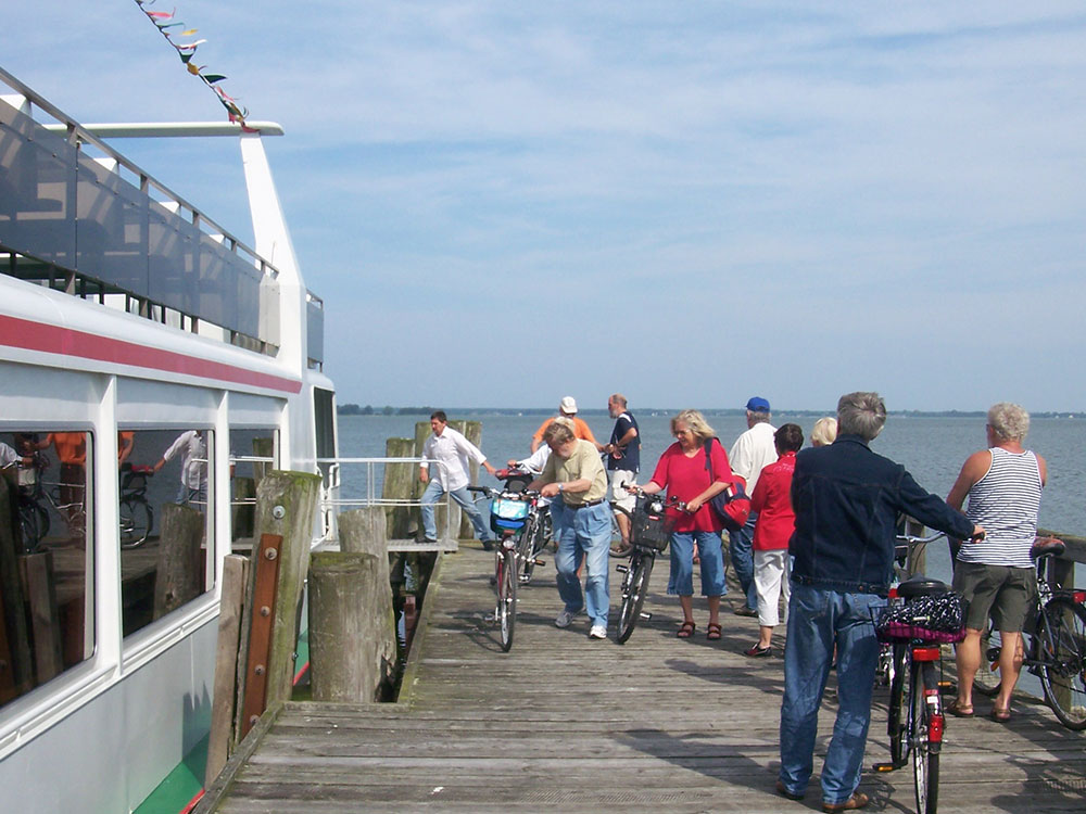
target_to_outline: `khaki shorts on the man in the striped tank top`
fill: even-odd
[[[983,631],[990,615],[997,629],[1021,633],[1037,595],[1037,572],[1032,568],[955,563],[954,588],[965,597],[965,626]]]

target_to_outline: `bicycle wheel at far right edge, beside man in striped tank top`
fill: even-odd
[[[1065,727],[1086,729],[1086,609],[1070,597],[1049,599],[1033,640],[1045,700]]]

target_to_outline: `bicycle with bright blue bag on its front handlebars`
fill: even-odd
[[[517,586],[520,583],[521,542],[532,507],[538,506],[540,494],[525,489],[509,492],[490,486],[468,486],[469,492],[491,498],[490,527],[501,537],[494,546],[494,586],[496,603],[494,621],[501,632],[502,650],[513,647],[517,624]],[[531,542],[526,540],[526,544]]]

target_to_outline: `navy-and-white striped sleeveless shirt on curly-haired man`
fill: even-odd
[[[965,517],[986,532],[980,543],[967,543],[958,551],[961,562],[1033,568],[1030,547],[1037,535],[1040,508],[1040,467],[1037,456],[1025,450],[1009,453],[993,447],[992,466],[969,491]]]

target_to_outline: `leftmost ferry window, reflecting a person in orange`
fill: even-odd
[[[91,434],[0,433],[0,704],[94,652]]]

